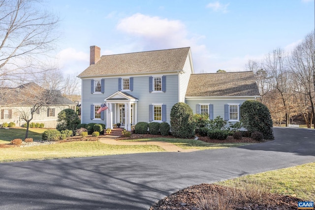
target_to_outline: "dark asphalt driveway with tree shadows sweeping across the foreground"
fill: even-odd
[[[315,162],[315,130],[274,132],[240,148],[1,163],[0,209],[148,210],[193,184]]]

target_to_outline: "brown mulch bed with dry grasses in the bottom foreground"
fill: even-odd
[[[201,210],[200,197],[213,192],[218,192],[221,198],[233,188],[215,185],[215,184],[199,184],[179,190],[168,197],[158,201],[150,210]],[[215,200],[215,199],[213,199]],[[243,199],[236,200],[230,206],[231,210],[296,210],[297,203],[303,201],[292,196],[284,196],[278,194],[267,193],[261,196],[259,200]],[[215,210],[216,207],[212,206]]]

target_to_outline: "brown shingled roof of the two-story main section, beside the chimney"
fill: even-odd
[[[190,47],[102,56],[78,77],[182,71]]]

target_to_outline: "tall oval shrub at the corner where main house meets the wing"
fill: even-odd
[[[172,135],[178,138],[190,138],[195,135],[196,123],[192,109],[188,104],[178,102],[174,104],[170,114]]]

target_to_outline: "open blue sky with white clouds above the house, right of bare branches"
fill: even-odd
[[[79,74],[101,55],[191,47],[195,73],[243,71],[290,51],[314,30],[314,0],[51,0],[61,18],[60,68]]]

